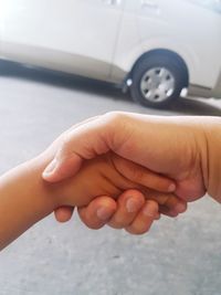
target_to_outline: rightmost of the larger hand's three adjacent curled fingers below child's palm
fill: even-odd
[[[148,232],[157,213],[157,202],[150,200],[146,201],[146,204],[139,211],[133,223],[126,228],[126,231],[131,234],[144,234]]]

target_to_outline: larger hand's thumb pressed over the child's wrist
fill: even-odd
[[[83,159],[92,159],[109,150],[107,137],[109,125],[102,124],[101,117],[91,118],[63,135],[63,143],[54,159],[44,169],[42,177],[50,182],[56,182],[74,176]]]

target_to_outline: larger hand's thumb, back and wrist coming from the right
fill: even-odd
[[[75,173],[82,160],[113,150],[173,179],[177,182],[176,194],[185,201],[194,201],[208,191],[220,202],[220,134],[219,117],[108,113],[70,129],[56,154],[54,169],[43,177],[48,181],[60,181]],[[93,202],[95,211],[97,204]],[[59,210],[56,214],[63,209]],[[71,214],[70,209],[66,219]],[[87,224],[93,224],[93,218],[91,221],[87,219]]]

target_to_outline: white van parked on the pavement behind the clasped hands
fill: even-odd
[[[221,98],[220,0],[0,0],[0,59],[129,87],[162,107]]]

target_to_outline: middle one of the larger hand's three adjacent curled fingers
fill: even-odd
[[[137,190],[127,190],[117,199],[117,211],[112,217],[108,225],[114,229],[128,226],[145,204],[145,197]]]

